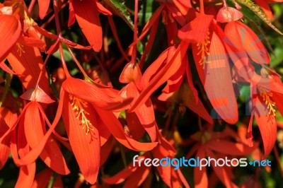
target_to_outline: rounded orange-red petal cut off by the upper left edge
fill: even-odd
[[[21,23],[15,16],[0,15],[0,62],[6,58],[9,50],[21,34]]]

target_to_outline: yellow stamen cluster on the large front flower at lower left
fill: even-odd
[[[76,119],[81,121],[81,124],[83,124],[83,129],[86,129],[86,135],[88,135],[89,131],[94,130],[91,121],[86,117],[86,115],[89,115],[89,113],[83,109],[88,107],[88,102],[76,98],[73,95],[69,95],[69,98],[72,101],[71,106],[73,107],[72,110],[76,113]]]

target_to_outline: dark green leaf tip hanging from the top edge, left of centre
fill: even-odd
[[[129,25],[129,28],[134,30],[134,23],[132,22],[127,7],[125,6],[125,1],[122,0],[104,0],[125,22]]]

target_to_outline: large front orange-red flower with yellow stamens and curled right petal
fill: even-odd
[[[125,134],[111,110],[127,107],[132,98],[124,99],[112,88],[67,78],[62,83],[60,99],[57,114],[62,113],[72,151],[85,180],[91,184],[96,182],[100,167],[100,135],[109,131],[117,141],[134,151],[149,151],[157,144],[139,143]]]

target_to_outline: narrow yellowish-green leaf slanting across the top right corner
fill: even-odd
[[[279,29],[277,29],[275,27],[275,25],[273,25],[270,20],[268,20],[267,16],[265,15],[265,12],[262,11],[262,9],[260,8],[260,6],[258,6],[257,4],[255,4],[253,1],[251,0],[237,0],[240,4],[243,4],[245,6],[247,6],[248,8],[250,8],[251,11],[253,11],[253,13],[255,13],[256,15],[258,15],[258,17],[260,17],[267,25],[270,25],[270,28],[274,29],[277,33],[279,33],[280,35],[283,35],[283,33],[281,31],[279,31]]]

